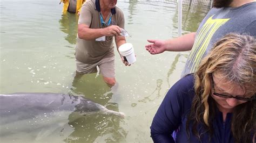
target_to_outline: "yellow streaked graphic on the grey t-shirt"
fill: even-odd
[[[212,17],[208,18],[206,23],[198,31],[197,38],[194,41],[193,48],[190,55],[188,56],[188,61],[190,61],[188,63],[188,67],[191,67],[191,73],[194,73],[197,70],[213,34],[218,30],[221,25],[224,25],[229,20],[212,19]]]

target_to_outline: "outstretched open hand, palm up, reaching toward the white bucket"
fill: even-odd
[[[152,55],[163,53],[166,50],[165,42],[162,40],[147,40],[147,41],[151,42],[152,44],[146,45],[145,48]]]

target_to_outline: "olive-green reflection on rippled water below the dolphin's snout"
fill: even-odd
[[[120,127],[122,119],[113,115],[80,116],[69,115],[69,123],[73,132],[66,142],[124,142],[127,131]]]

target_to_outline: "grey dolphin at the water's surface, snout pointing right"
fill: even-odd
[[[80,115],[102,113],[124,117],[122,112],[108,110],[105,106],[81,96],[53,93],[0,95],[0,125],[61,111],[78,112]]]

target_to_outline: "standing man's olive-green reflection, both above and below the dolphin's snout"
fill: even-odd
[[[72,83],[71,92],[82,94],[85,98],[118,112],[118,104],[110,102],[113,89],[104,82],[102,75],[77,74]],[[73,132],[65,139],[67,142],[124,142],[127,131],[120,126],[123,118],[116,115],[95,113],[81,116],[77,112],[69,115]]]

